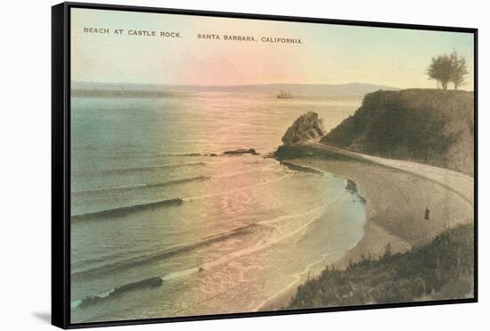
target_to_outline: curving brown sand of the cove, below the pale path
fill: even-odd
[[[360,161],[357,157],[351,161],[318,158],[285,158],[282,161],[298,168],[350,179],[366,199],[363,237],[328,266],[345,269],[350,262],[364,256],[377,258],[388,245],[393,253],[407,252],[428,243],[447,228],[473,221],[472,205],[468,200],[454,192],[453,187],[423,178],[418,173]],[[429,220],[423,217],[426,207],[431,211]],[[321,262],[314,264],[317,265],[306,272],[307,277],[298,277],[294,284],[263,302],[257,310],[283,310],[296,294],[298,286],[309,277],[320,275],[327,266]]]

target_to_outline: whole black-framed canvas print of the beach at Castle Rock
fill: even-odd
[[[53,325],[477,302],[477,29],[52,15]]]

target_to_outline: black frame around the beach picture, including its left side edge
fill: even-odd
[[[107,322],[70,322],[70,9],[86,8],[125,12],[173,13],[191,16],[226,17],[266,21],[293,21],[323,24],[338,24],[362,27],[395,29],[421,29],[454,31],[473,34],[474,37],[474,297],[468,299],[399,302],[362,306],[318,308],[306,310],[274,310],[188,316],[160,319],[132,319]],[[345,21],[293,16],[275,16],[238,12],[207,12],[115,4],[62,3],[52,7],[52,324],[61,328],[110,327],[150,323],[181,322],[203,319],[235,319],[259,316],[275,316],[330,312],[339,310],[372,310],[397,307],[428,306],[453,303],[478,302],[478,29],[432,25],[399,24],[377,21]]]

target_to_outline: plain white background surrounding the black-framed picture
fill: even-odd
[[[138,330],[464,330],[485,329],[490,215],[490,20],[485,1],[393,0],[110,1],[210,11],[252,12],[479,29],[479,296],[473,304],[226,319],[126,327]],[[51,0],[4,1],[0,10],[0,329],[44,330],[50,314]],[[486,258],[487,259],[487,258]],[[123,329],[116,327],[116,329]]]

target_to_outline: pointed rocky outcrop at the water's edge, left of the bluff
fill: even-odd
[[[299,116],[288,128],[284,136],[282,136],[282,143],[290,145],[312,138],[323,137],[324,135],[323,120],[318,117],[316,112],[306,112],[306,114]]]

